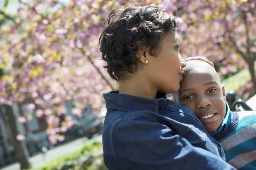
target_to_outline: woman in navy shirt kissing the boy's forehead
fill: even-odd
[[[119,91],[104,94],[109,170],[235,170],[194,113],[166,99],[178,92],[186,66],[177,28],[155,5],[130,4],[108,16],[100,50],[119,82]]]

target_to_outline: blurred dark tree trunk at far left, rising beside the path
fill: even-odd
[[[15,156],[20,162],[21,169],[29,169],[31,168],[31,164],[29,162],[29,151],[27,150],[26,142],[25,141],[18,141],[17,135],[20,134],[20,129],[18,126],[18,120],[12,110],[12,106],[4,105],[6,113],[8,115],[8,120],[6,122],[11,125],[11,132],[12,138],[14,140],[14,151]]]

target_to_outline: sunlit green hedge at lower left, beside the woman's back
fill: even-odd
[[[108,170],[103,161],[102,143],[93,142],[82,149],[29,170]]]

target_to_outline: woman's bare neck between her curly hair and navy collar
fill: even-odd
[[[132,77],[125,81],[119,81],[119,93],[155,99],[157,89],[152,87],[150,83],[145,82],[143,78]]]

